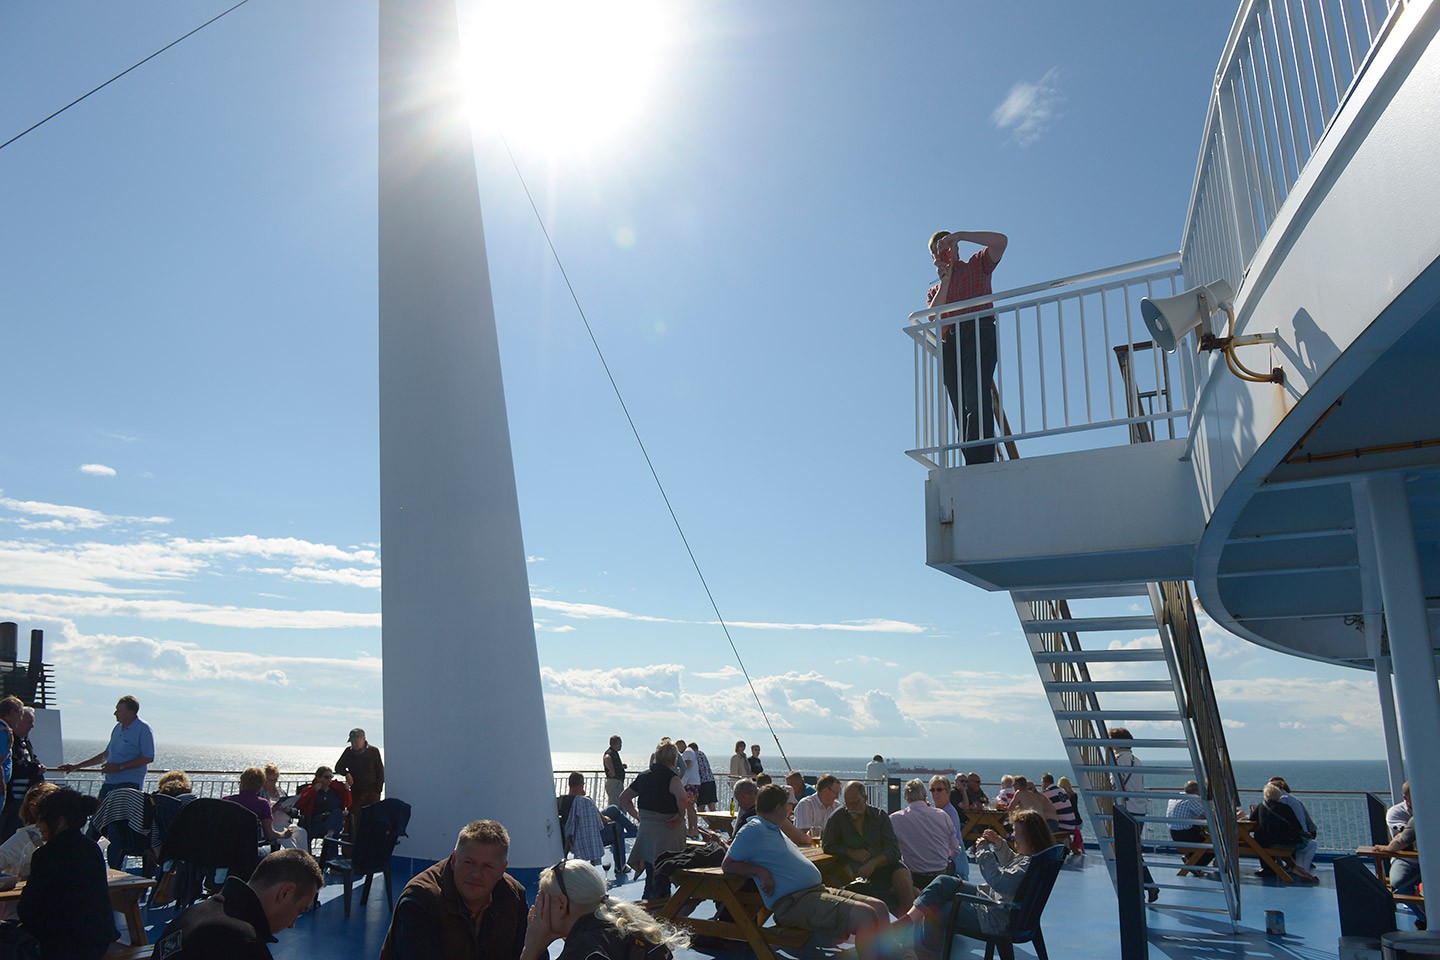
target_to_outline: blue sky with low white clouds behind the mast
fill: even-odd
[[[10,4],[0,140],[226,6]],[[900,327],[936,229],[1008,233],[1001,288],[1175,250],[1233,12],[665,10],[632,117],[511,145],[786,750],[1057,756],[1008,597],[924,566]],[[71,737],[121,692],[161,743],[380,728],[374,32],[252,0],[0,150],[0,616]],[[477,167],[552,746],[768,744],[492,128]],[[1207,638],[1236,756],[1380,753],[1369,675]]]

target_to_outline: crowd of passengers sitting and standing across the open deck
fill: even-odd
[[[10,699],[0,701],[0,723],[16,708]],[[13,733],[24,728],[20,707],[20,718],[10,724]],[[29,747],[27,741],[22,747],[20,740],[12,740],[16,757]],[[612,737],[603,757],[603,807],[588,796],[580,773],[570,774],[566,793],[557,797],[566,856],[541,874],[533,904],[505,872],[505,828],[494,820],[471,822],[459,830],[446,859],[405,887],[382,960],[539,960],[556,941],[564,944],[560,957],[664,960],[688,944],[688,934],[655,920],[654,907],[670,894],[671,871],[700,865],[697,858],[753,878],[780,925],[809,930],[819,940],[854,937],[860,957],[927,954],[958,892],[978,898],[962,907],[962,924],[995,933],[1008,923],[1008,905],[1035,855],[1051,848],[1061,848],[1061,856],[1083,852],[1079,797],[1067,777],[1050,773],[1038,782],[1007,774],[994,799],[978,773],[959,774],[953,782],[943,774],[910,779],[903,784],[900,809],[886,813],[880,807],[884,782],[841,782],[832,774],[811,780],[795,770],[775,782],[763,770],[759,746],[746,751],[744,741],[737,741],[727,776],[733,799],[726,838],[698,816],[717,810],[717,780],[724,774],[716,774],[697,744],[662,738],[638,776],[628,774],[621,747],[621,738]],[[383,764],[363,730],[351,731],[351,746],[341,756],[340,763],[353,769],[351,751],[373,751],[377,783],[363,786],[366,800],[379,800]],[[876,763],[883,763],[878,756]],[[1128,766],[1132,774],[1115,786],[1142,790],[1142,774],[1135,770],[1139,761]],[[101,800],[46,783],[43,767],[24,773],[33,783],[16,806],[13,833],[0,843],[0,869],[27,877],[29,882],[19,901],[22,924],[7,925],[6,936],[33,936],[42,948],[49,943],[50,951],[42,956],[99,957],[118,936],[102,845],[109,843],[111,865],[118,866],[124,852],[135,852],[140,838],[127,836],[124,822],[98,823]],[[7,771],[7,782],[14,776]],[[298,796],[289,796],[274,764],[245,770],[239,790],[223,799],[256,815],[256,842],[266,855],[248,882],[226,879],[219,894],[171,921],[160,938],[166,956],[217,956],[243,941],[233,956],[268,957],[266,944],[292,925],[318,894],[318,862],[328,858],[328,846],[350,829],[346,818],[359,809],[360,790],[350,789],[353,771],[347,780],[320,767]],[[107,783],[102,797],[114,793],[111,786]],[[1185,794],[1171,800],[1166,816],[1204,819],[1198,786],[1187,784]],[[171,770],[160,777],[151,799],[157,816],[144,839],[151,842],[147,852],[158,862],[164,829],[158,810],[194,800],[193,784],[184,771]],[[1143,806],[1125,803],[1143,816]],[[995,818],[998,812],[1005,816]],[[1404,812],[1404,805],[1397,805],[1392,819],[1398,823]],[[1261,843],[1293,846],[1296,874],[1313,877],[1309,866],[1315,823],[1283,779],[1266,786],[1264,799],[1250,816]],[[966,830],[972,820],[976,823]],[[121,833],[109,832],[115,826]],[[1413,825],[1401,825],[1401,830],[1407,826],[1413,836]],[[1404,842],[1401,830],[1397,842]],[[1176,842],[1202,839],[1198,825],[1172,825],[1171,832]],[[99,833],[109,836],[96,842]],[[971,845],[965,842],[968,833]],[[315,845],[321,846],[318,862]],[[605,864],[606,848],[611,864]],[[806,848],[827,855],[824,881],[805,855]],[[609,895],[612,884],[625,882],[632,872],[644,877],[642,900],[648,905]],[[978,874],[973,882],[972,874]],[[1413,885],[1408,875],[1400,881]],[[1417,918],[1423,923],[1423,914]]]

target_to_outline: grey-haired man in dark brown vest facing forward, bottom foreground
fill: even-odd
[[[526,889],[505,872],[510,833],[467,823],[455,851],[405,885],[380,960],[514,960],[526,943]]]

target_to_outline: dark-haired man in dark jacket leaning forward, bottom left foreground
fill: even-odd
[[[310,910],[324,879],[305,851],[275,851],[261,861],[249,882],[228,877],[220,892],[170,921],[156,941],[157,957],[269,957],[266,944],[295,925]]]

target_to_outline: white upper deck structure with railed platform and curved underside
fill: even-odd
[[[1437,29],[1427,1],[1241,4],[1179,255],[994,298],[1002,446],[1024,459],[960,466],[937,311],[906,328],[930,566],[1017,600],[1189,580],[1238,636],[1374,669],[1392,786],[1411,759],[1421,825],[1440,822],[1420,760],[1440,735]],[[1195,334],[1149,344],[1142,296],[1217,279],[1236,335],[1267,341],[1236,357],[1283,383],[1241,380]],[[1037,662],[1083,669],[1056,649]],[[1440,835],[1421,826],[1420,849],[1440,877]]]

